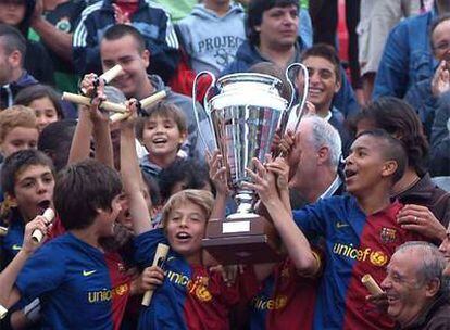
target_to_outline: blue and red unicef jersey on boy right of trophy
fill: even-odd
[[[398,202],[366,216],[353,196],[334,196],[293,211],[307,237],[325,239],[325,269],[317,292],[314,329],[391,329],[393,321],[370,304],[361,283],[371,274],[380,283],[396,248],[423,240],[397,225]]]

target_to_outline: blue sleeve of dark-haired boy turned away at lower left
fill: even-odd
[[[22,300],[30,302],[55,290],[64,280],[65,251],[58,251],[54,248],[50,242],[26,262],[15,282]]]

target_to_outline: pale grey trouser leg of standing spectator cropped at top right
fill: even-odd
[[[366,101],[372,98],[383,48],[391,28],[402,17],[418,14],[420,7],[420,0],[361,0],[361,21],[358,25],[359,63]]]

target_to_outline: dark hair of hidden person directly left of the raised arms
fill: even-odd
[[[53,160],[57,172],[67,164],[76,123],[75,119],[50,123],[39,135],[38,150]]]

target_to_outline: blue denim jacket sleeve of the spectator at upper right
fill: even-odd
[[[389,34],[376,74],[373,98],[403,98],[408,88],[408,26],[398,24]]]

